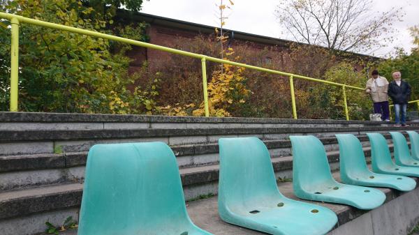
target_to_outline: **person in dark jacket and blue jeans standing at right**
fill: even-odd
[[[390,82],[388,86],[388,95],[395,105],[396,126],[400,126],[400,123],[402,123],[402,126],[407,126],[406,109],[411,95],[411,86],[402,80],[402,73],[400,71],[392,73],[392,77],[394,81]],[[402,120],[400,120],[400,109],[402,109]]]

